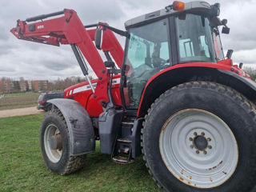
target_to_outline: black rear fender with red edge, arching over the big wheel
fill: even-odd
[[[239,76],[232,70],[203,66],[170,68],[155,74],[146,83],[138,107],[137,117],[144,117],[154,100],[166,90],[185,82],[194,81],[218,82],[224,86],[230,86],[250,99],[250,101],[256,102],[256,83],[249,78]]]

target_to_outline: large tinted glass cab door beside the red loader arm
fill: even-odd
[[[132,28],[129,33],[124,93],[129,93],[126,107],[136,109],[146,82],[170,66],[167,19]]]

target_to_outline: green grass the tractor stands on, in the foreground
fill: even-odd
[[[0,118],[0,191],[161,191],[146,170],[142,158],[118,165],[110,155],[87,155],[85,167],[59,176],[46,169],[38,133],[43,114]]]

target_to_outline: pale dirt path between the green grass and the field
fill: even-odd
[[[14,116],[22,116],[27,114],[41,114],[43,110],[37,110],[36,106],[14,109],[14,110],[0,110],[0,118],[8,118]]]

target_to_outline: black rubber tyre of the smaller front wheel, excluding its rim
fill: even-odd
[[[54,125],[58,128],[62,137],[62,154],[58,162],[53,162],[47,156],[44,136],[46,128],[49,125]],[[50,110],[45,115],[40,129],[40,146],[42,151],[42,158],[46,163],[46,167],[55,174],[71,174],[76,170],[82,168],[85,156],[72,156],[70,155],[70,134],[66,126],[65,118],[62,112],[58,109]]]

